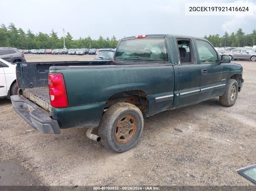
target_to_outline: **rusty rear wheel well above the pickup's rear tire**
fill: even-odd
[[[143,116],[145,116],[148,112],[148,97],[145,91],[131,90],[122,91],[114,94],[107,100],[104,111],[106,111],[110,106],[118,102],[131,103],[135,105],[141,110]]]

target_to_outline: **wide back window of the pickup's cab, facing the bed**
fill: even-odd
[[[165,39],[144,38],[121,41],[115,60],[168,62]]]

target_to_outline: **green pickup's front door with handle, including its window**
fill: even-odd
[[[218,53],[205,40],[195,39],[195,43],[201,72],[198,101],[222,95],[225,91],[226,79],[222,79],[222,65]]]

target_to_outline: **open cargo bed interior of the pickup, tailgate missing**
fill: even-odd
[[[18,84],[22,95],[47,112],[51,112],[48,90],[48,73],[51,66],[93,66],[112,65],[109,61],[65,61],[65,62],[20,62],[18,64]]]

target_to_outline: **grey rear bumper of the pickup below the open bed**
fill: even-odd
[[[50,114],[23,96],[11,96],[13,109],[34,129],[46,134],[61,133],[58,122]]]

